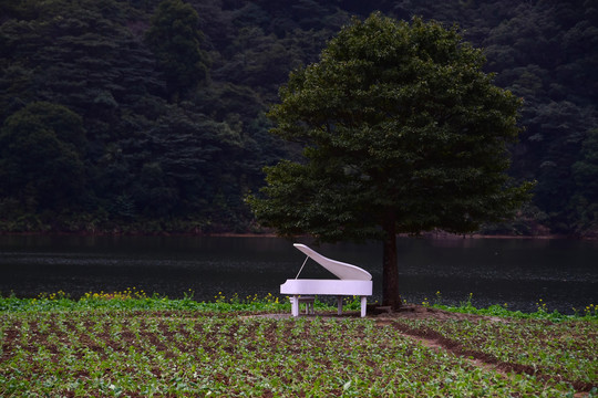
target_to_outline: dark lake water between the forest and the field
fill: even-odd
[[[598,242],[569,240],[398,239],[403,298],[458,304],[473,294],[477,306],[507,304],[571,313],[597,303]],[[323,245],[332,259],[372,273],[381,298],[380,244]],[[215,237],[0,237],[0,292],[37,296],[60,290],[86,292],[136,287],[169,297],[190,289],[210,301],[278,294],[295,277],[303,255],[276,238]],[[301,277],[333,277],[308,262]]]

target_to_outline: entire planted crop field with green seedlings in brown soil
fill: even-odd
[[[596,321],[442,314],[1,311],[0,396],[597,396]]]

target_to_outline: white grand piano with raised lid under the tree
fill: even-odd
[[[338,303],[338,313],[342,313],[342,296],[361,296],[361,316],[365,316],[367,296],[372,295],[372,275],[359,266],[331,260],[322,254],[311,250],[305,244],[295,243],[295,248],[307,254],[303,265],[295,279],[287,280],[280,285],[280,294],[292,295],[291,306],[292,316],[299,316],[299,295],[301,294],[328,294],[336,295]],[[309,259],[315,260],[328,271],[332,272],[339,280],[312,280],[298,279]]]

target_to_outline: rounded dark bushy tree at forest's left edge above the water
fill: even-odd
[[[76,207],[85,144],[81,117],[64,106],[32,103],[16,112],[0,129],[0,193],[23,211]]]

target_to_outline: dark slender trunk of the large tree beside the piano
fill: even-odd
[[[384,229],[384,254],[382,269],[382,305],[392,310],[401,306],[399,294],[399,268],[396,266],[396,224],[394,213],[388,214],[382,228]]]

